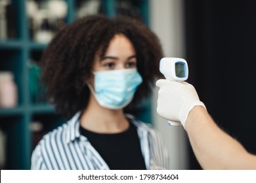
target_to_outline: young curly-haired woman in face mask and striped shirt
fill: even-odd
[[[160,134],[124,108],[148,97],[162,57],[138,20],[87,16],[59,31],[41,59],[48,97],[68,122],[32,154],[32,169],[168,169]]]

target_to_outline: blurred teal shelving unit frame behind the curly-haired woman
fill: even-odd
[[[6,135],[6,158],[3,169],[30,169],[30,158],[33,150],[34,134],[30,129],[32,122],[41,121],[45,125],[45,133],[64,121],[54,112],[52,105],[35,102],[30,88],[30,59],[39,59],[46,44],[32,40],[28,29],[26,1],[12,1],[14,8],[14,29],[12,37],[5,41],[0,39],[0,71],[11,71],[18,88],[18,105],[14,108],[0,108],[0,128]],[[43,1],[43,0],[36,0]],[[68,5],[66,24],[76,19],[79,3],[89,0],[65,0]],[[101,0],[101,13],[113,17],[119,14],[117,3],[123,0]],[[148,0],[133,0],[145,24],[149,25]],[[39,61],[39,60],[38,60]],[[136,111],[135,116],[144,122],[151,121],[150,99],[144,101]]]

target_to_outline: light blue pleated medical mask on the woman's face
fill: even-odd
[[[96,101],[105,108],[119,109],[129,105],[137,87],[142,83],[142,77],[137,69],[118,69],[113,71],[96,71],[95,95]]]

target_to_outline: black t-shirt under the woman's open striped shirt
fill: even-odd
[[[135,125],[121,133],[100,134],[83,129],[81,134],[87,137],[100,156],[112,170],[144,170],[146,165],[142,156],[140,141]]]

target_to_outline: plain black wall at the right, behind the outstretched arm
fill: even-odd
[[[184,0],[184,8],[188,82],[217,124],[256,154],[256,1]],[[190,168],[201,169],[191,148]]]

